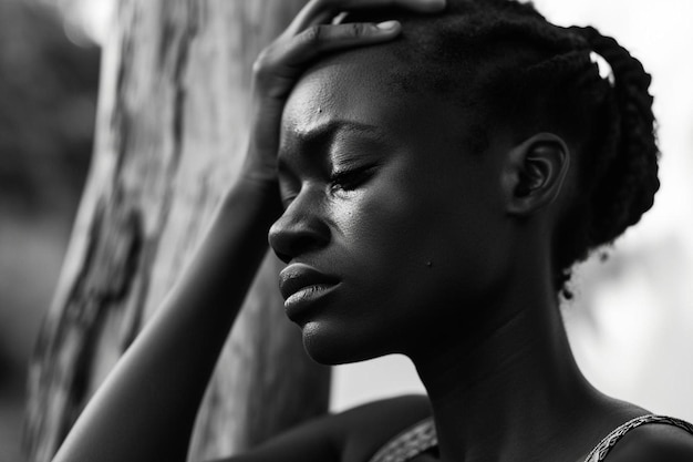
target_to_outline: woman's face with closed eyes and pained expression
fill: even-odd
[[[287,314],[327,363],[464,337],[507,267],[500,156],[465,150],[452,103],[397,90],[383,49],[307,73],[281,126],[269,239]]]

